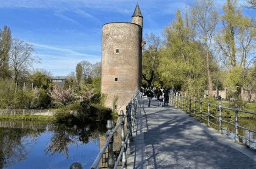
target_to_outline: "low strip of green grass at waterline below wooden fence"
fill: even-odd
[[[41,115],[7,115],[0,116],[0,120],[16,120],[16,121],[55,121],[56,117]]]

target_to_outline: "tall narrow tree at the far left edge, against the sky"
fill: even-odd
[[[0,30],[0,77],[10,75],[9,71],[9,51],[11,48],[11,29],[6,25],[4,30]]]

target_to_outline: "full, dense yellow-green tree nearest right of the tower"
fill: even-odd
[[[180,10],[175,21],[164,29],[165,44],[161,49],[157,71],[166,87],[187,92],[189,95],[202,94],[206,81],[203,46],[193,40],[194,29],[188,14],[185,23]]]

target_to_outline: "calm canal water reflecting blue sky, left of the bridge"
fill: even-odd
[[[0,169],[67,169],[74,162],[89,168],[105,126],[0,121]]]

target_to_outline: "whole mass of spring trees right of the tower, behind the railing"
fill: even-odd
[[[166,86],[197,99],[225,90],[234,100],[230,106],[255,112],[247,103],[256,99],[256,25],[243,8],[226,0],[220,15],[212,0],[195,0],[185,12],[177,10],[162,38],[146,36],[143,86]]]

